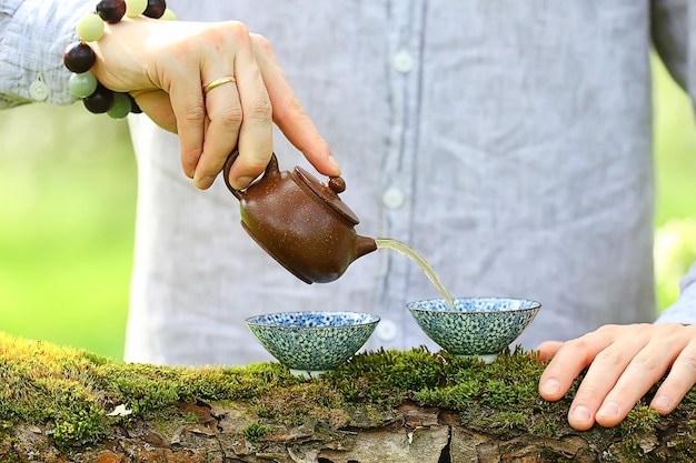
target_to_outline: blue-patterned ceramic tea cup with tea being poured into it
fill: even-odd
[[[443,299],[409,302],[407,308],[440,348],[490,363],[519,338],[541,304],[527,299],[459,298],[455,310]]]

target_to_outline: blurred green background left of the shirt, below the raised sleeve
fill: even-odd
[[[122,358],[136,188],[125,121],[0,111],[0,331]]]

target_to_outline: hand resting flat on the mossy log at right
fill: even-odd
[[[539,381],[546,400],[563,397],[588,368],[568,412],[568,422],[580,431],[595,422],[618,424],[667,371],[650,403],[662,414],[696,383],[696,325],[606,325],[566,343],[541,343],[538,350],[543,361],[553,356]]]

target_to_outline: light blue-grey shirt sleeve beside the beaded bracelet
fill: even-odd
[[[0,0],[0,109],[46,101],[69,104],[66,47],[97,0]]]

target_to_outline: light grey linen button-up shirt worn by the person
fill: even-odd
[[[518,340],[527,348],[655,320],[648,51],[653,36],[696,94],[695,3],[168,3],[181,19],[237,19],[268,37],[344,169],[358,232],[408,243],[456,296],[540,301]],[[41,72],[59,101],[64,76],[37,60],[17,71],[4,58],[7,30],[21,20],[0,19],[0,93],[28,98],[27,74]],[[22,87],[8,88],[7,76],[22,72]],[[127,360],[266,360],[243,320],[288,310],[377,313],[368,349],[437,349],[405,309],[438,295],[415,263],[378,250],[336,282],[306,285],[246,235],[221,181],[197,191],[183,177],[175,135],[146,117],[131,118],[131,133],[139,198]],[[309,168],[280,134],[275,143],[282,169]],[[660,321],[696,320],[695,280],[696,266]]]

